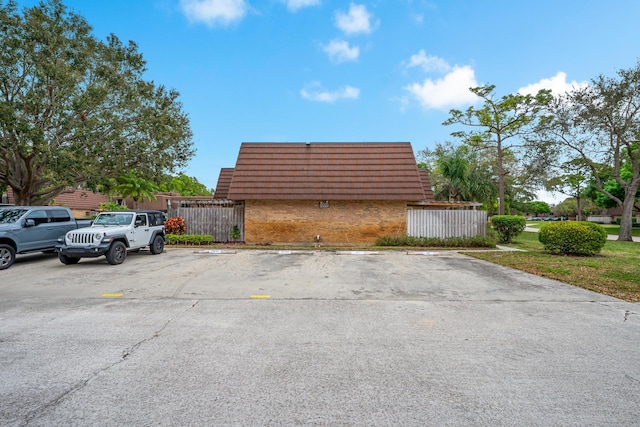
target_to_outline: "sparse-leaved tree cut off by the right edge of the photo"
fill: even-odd
[[[640,62],[600,75],[588,87],[558,97],[541,138],[589,167],[598,191],[622,208],[618,240],[632,241],[632,217],[640,188]],[[603,168],[603,165],[605,166]],[[610,176],[622,189],[607,186]]]

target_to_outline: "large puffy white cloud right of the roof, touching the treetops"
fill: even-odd
[[[405,89],[423,108],[446,109],[474,103],[477,97],[469,88],[477,86],[473,68],[456,65],[441,79],[425,79],[424,83],[413,83]]]

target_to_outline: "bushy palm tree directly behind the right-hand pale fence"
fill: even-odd
[[[434,197],[437,200],[478,201],[490,205],[497,190],[488,167],[466,145],[437,144],[435,150],[420,152],[431,171]]]

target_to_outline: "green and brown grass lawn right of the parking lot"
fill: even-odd
[[[640,243],[609,240],[602,252],[593,257],[552,255],[544,251],[537,233],[525,231],[514,243],[505,246],[526,252],[467,252],[467,255],[640,302]]]

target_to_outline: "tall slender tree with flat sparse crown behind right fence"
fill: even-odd
[[[505,212],[505,177],[509,173],[504,158],[510,152],[517,154],[526,144],[543,107],[552,99],[551,92],[541,90],[537,95],[506,95],[494,99],[494,85],[469,89],[483,101],[481,108],[469,107],[466,111],[451,110],[451,117],[443,125],[462,124],[472,131],[458,131],[451,135],[477,150],[491,152],[495,158],[498,177],[498,212]]]

